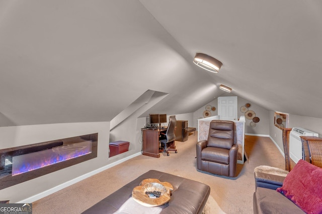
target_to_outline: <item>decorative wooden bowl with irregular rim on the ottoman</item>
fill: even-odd
[[[160,182],[158,179],[148,178],[141,181],[139,186],[135,186],[132,191],[132,198],[143,206],[158,206],[170,200],[173,186],[169,182]],[[146,191],[160,191],[161,195],[157,198],[150,198]]]

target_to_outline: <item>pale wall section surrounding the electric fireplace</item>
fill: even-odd
[[[97,158],[2,189],[0,199],[15,203],[111,163],[113,160],[108,158],[109,128],[109,122],[1,127],[0,149],[98,133],[98,154]]]

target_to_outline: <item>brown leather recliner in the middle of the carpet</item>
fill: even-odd
[[[208,139],[197,143],[197,169],[236,176],[238,145],[234,144],[234,127],[232,121],[210,122]]]

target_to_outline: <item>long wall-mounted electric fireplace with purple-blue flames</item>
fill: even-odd
[[[0,189],[97,157],[98,133],[0,149]]]

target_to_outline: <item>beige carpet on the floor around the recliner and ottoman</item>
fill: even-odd
[[[205,213],[253,213],[254,168],[259,165],[285,167],[283,156],[270,138],[246,136],[245,149],[249,160],[237,164],[237,177],[200,172],[196,169],[196,143],[197,133],[190,135],[188,141],[176,141],[177,154],[166,156],[162,153],[160,158],[139,155],[127,160],[35,201],[33,214],[80,213],[150,169],[208,184],[211,197]]]

